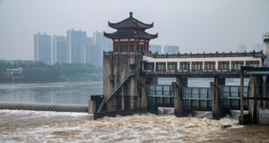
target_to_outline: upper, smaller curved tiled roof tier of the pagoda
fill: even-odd
[[[145,24],[142,21],[138,21],[134,19],[133,13],[130,13],[130,17],[124,21],[120,21],[117,23],[110,23],[108,21],[108,26],[113,29],[134,28],[134,27],[141,28],[141,29],[150,29],[153,27],[153,22],[152,24]]]

